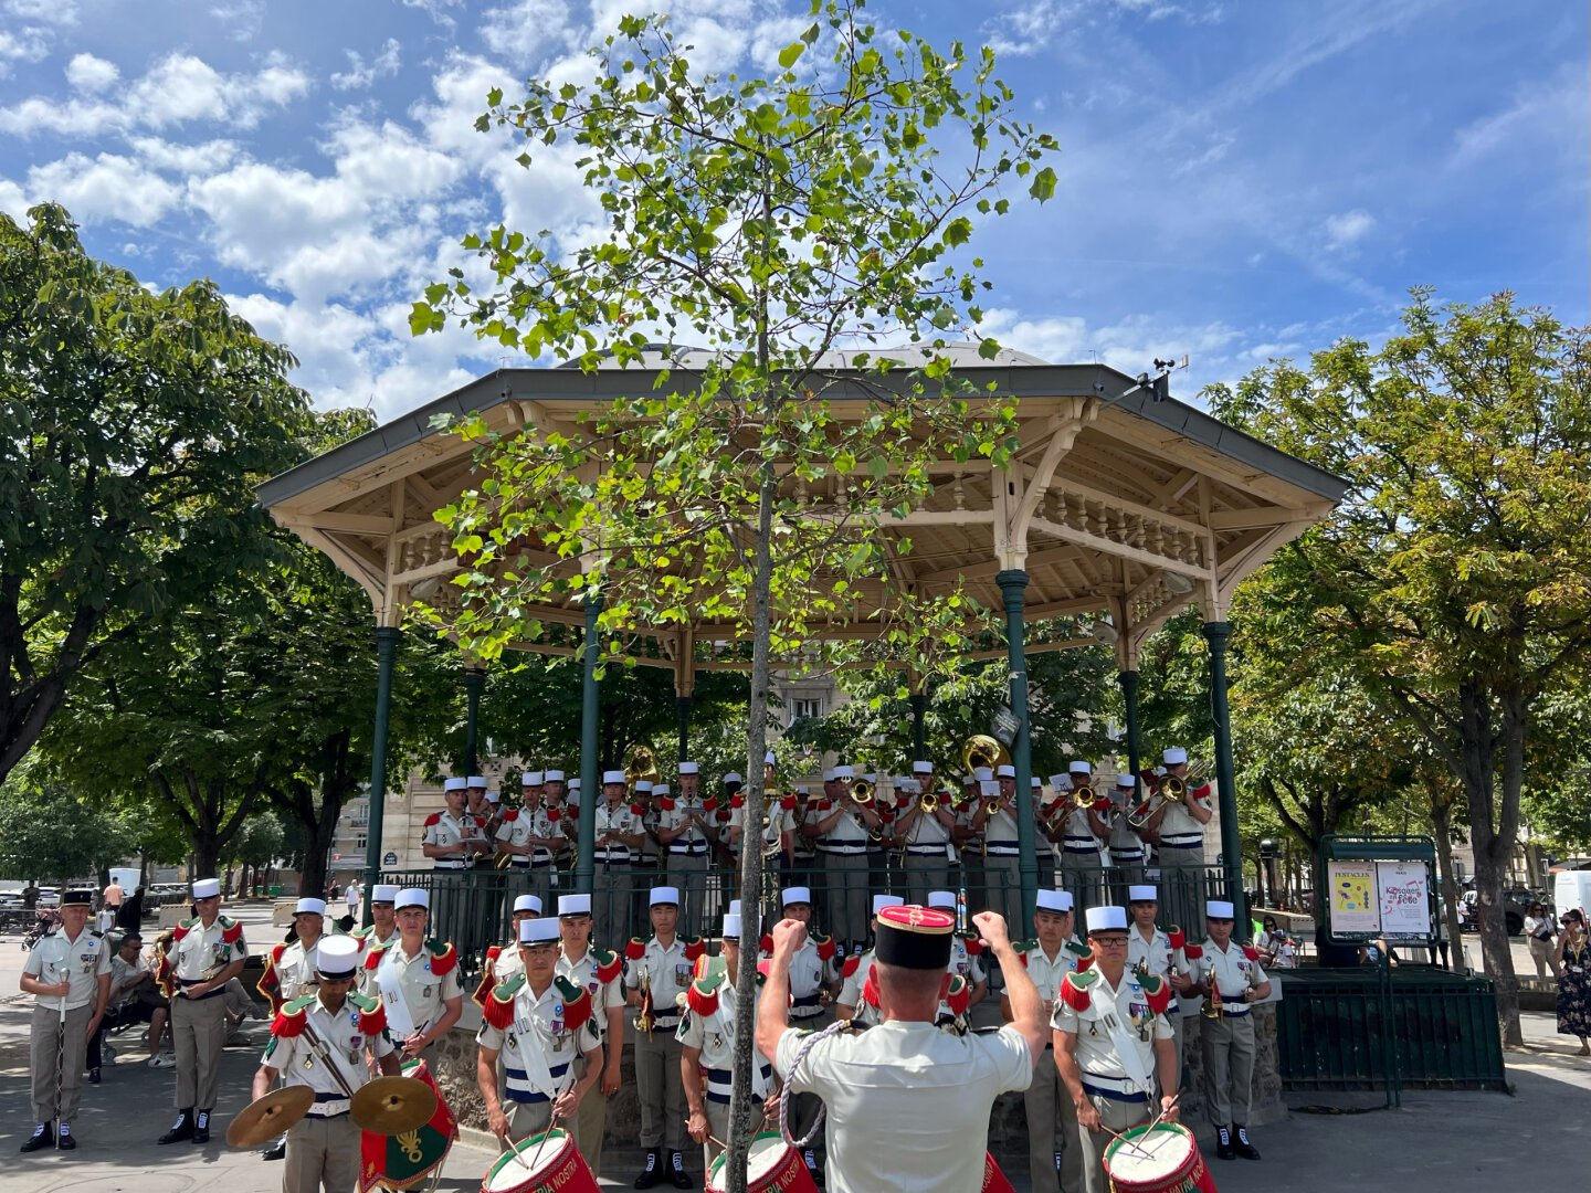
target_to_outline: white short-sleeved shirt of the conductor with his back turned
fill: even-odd
[[[983,1187],[994,1099],[1033,1082],[1015,1028],[951,1036],[932,1023],[881,1023],[831,1036],[780,1036],[775,1067],[791,1093],[827,1106],[829,1193],[975,1193]]]

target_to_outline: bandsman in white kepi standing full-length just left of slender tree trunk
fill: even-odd
[[[679,1082],[679,996],[690,985],[697,958],[706,953],[700,938],[681,940],[679,891],[654,886],[648,899],[652,938],[635,937],[625,948],[624,985],[635,1018],[635,1085],[641,1096],[641,1147],[646,1166],[636,1188],[651,1188],[665,1176],[675,1188],[695,1182],[684,1166],[686,1091]],[[668,1152],[667,1158],[663,1152]]]

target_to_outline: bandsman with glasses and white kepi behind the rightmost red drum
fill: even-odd
[[[1082,1187],[1109,1193],[1101,1161],[1111,1136],[1157,1113],[1168,1123],[1177,1118],[1171,986],[1126,967],[1120,907],[1088,908],[1088,946],[1093,964],[1061,980],[1050,1028],[1055,1067],[1077,1112]]]

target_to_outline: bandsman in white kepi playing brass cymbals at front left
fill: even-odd
[[[253,1096],[264,1098],[280,1077],[305,1085],[315,1101],[288,1129],[283,1193],[353,1193],[360,1180],[360,1128],[348,1094],[369,1080],[366,1058],[388,1077],[398,1053],[387,1037],[382,1004],[353,993],[360,942],[328,937],[315,950],[315,993],[290,1001],[270,1024],[270,1042],[255,1072]]]

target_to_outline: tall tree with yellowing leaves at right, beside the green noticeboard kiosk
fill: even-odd
[[[1511,294],[1438,307],[1217,388],[1212,409],[1352,480],[1274,565],[1335,665],[1464,792],[1483,907],[1500,908],[1534,725],[1591,652],[1591,353]],[[1505,1042],[1519,1042],[1502,916],[1481,916]]]

